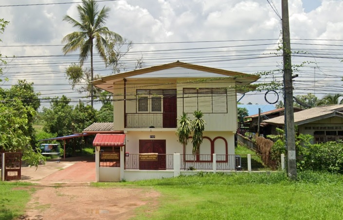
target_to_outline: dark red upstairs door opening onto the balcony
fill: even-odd
[[[163,128],[176,128],[177,102],[176,90],[163,95]]]

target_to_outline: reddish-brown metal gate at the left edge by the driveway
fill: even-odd
[[[4,160],[1,155],[1,176],[2,180],[20,180],[21,179],[21,153],[5,152]],[[3,163],[3,164],[2,164]],[[3,170],[2,170],[3,169]]]

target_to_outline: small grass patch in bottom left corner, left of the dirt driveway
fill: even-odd
[[[32,184],[0,181],[0,220],[12,220],[24,214],[34,191]]]

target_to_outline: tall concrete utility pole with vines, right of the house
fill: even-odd
[[[297,178],[295,158],[295,130],[293,110],[292,64],[289,37],[288,0],[282,0],[282,43],[284,57],[284,94],[285,94],[285,127],[286,147],[288,151],[288,175],[290,179]]]

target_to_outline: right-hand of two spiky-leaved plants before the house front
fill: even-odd
[[[191,121],[191,130],[193,131],[192,144],[193,154],[199,154],[200,145],[202,144],[202,132],[205,130],[205,121],[202,119],[204,114],[201,111],[194,111],[195,119]]]

